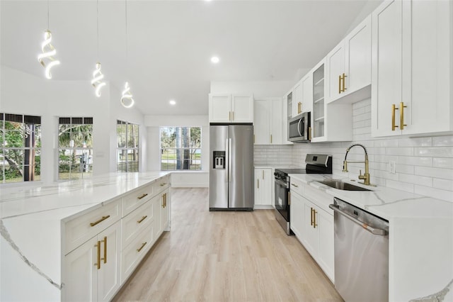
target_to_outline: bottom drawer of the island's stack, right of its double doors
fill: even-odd
[[[127,279],[153,244],[153,223],[142,230],[121,253],[121,283]]]

